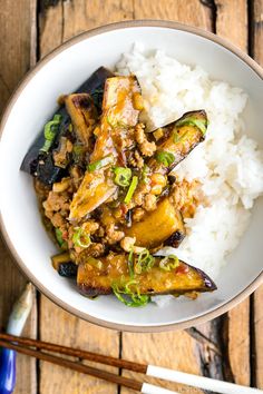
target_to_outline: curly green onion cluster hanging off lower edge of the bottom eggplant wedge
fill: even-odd
[[[133,292],[130,289],[130,286],[136,286],[136,290]],[[124,290],[120,290],[117,284],[113,284],[111,288],[118,301],[130,307],[145,306],[150,301],[150,297],[148,295],[142,295],[139,293],[136,280],[128,282],[124,286]],[[126,295],[126,297],[124,297],[123,294]]]

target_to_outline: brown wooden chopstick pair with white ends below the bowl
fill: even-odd
[[[104,381],[118,384],[128,388],[133,388],[137,392],[145,394],[176,394],[174,391],[169,391],[153,384],[138,382],[128,377],[119,376],[114,373],[101,371],[78,361],[70,361],[64,357],[59,357],[42,351],[64,354],[67,356],[78,357],[80,359],[88,359],[90,362],[96,362],[105,365],[116,366],[124,370],[134,371],[142,373],[147,376],[158,377],[169,382],[176,382],[186,384],[193,387],[199,387],[203,390],[210,390],[216,393],[223,394],[260,394],[263,393],[262,390],[251,388],[241,386],[233,383],[216,381],[210,377],[203,377],[197,375],[187,374],[184,372],[173,371],[169,368],[164,368],[155,365],[139,364],[126,359],[115,358],[110,356],[100,355],[97,353],[91,353],[87,351],[81,351],[78,348],[71,348],[66,346],[60,346],[42,341],[36,341],[31,338],[18,337],[14,335],[0,333],[0,346],[11,348],[19,353],[26,354],[28,356],[47,361],[52,364],[57,364],[72,371],[80,372],[90,376],[101,378]],[[32,348],[35,347],[35,348]],[[177,393],[178,394],[178,393]]]

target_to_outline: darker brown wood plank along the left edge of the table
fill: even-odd
[[[0,12],[0,114],[18,81],[36,59],[36,1],[1,1]],[[26,285],[26,278],[16,266],[2,239],[0,239],[0,328],[7,324],[11,305]],[[36,304],[25,328],[25,335],[36,336]],[[36,393],[36,361],[18,355],[18,394]]]

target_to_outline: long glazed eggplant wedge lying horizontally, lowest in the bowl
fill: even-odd
[[[177,294],[192,292],[213,292],[214,282],[201,269],[177,259],[176,267],[173,258],[166,258],[166,267],[162,268],[163,257],[154,257],[154,265],[149,270],[134,276],[128,270],[128,255],[109,254],[95,259],[89,257],[78,266],[77,284],[79,292],[96,296],[111,294],[113,286],[124,292],[127,284],[129,290],[142,295]]]

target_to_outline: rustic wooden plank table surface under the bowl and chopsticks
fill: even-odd
[[[0,110],[27,70],[61,42],[94,27],[129,19],[169,19],[196,26],[228,39],[263,63],[263,0],[1,0]],[[0,265],[3,328],[26,279],[2,242]],[[261,287],[228,314],[196,328],[132,334],[94,326],[37,294],[25,334],[263,388],[262,302]],[[202,393],[176,384],[169,388]],[[18,357],[16,394],[129,392],[27,356]]]

